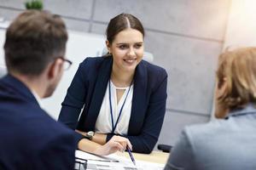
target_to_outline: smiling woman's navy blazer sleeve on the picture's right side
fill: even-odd
[[[154,149],[166,114],[166,71],[161,71],[155,81],[158,83],[150,95],[141,133],[137,136],[124,135],[131,141],[132,150],[138,153],[149,154]],[[112,136],[113,134],[108,134],[107,140],[111,139]]]

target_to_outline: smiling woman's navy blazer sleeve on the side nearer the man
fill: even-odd
[[[79,65],[79,69],[73,77],[73,81],[67,89],[66,97],[61,104],[61,113],[58,118],[58,122],[64,123],[73,130],[77,127],[79,115],[87,94],[84,67],[82,64]]]

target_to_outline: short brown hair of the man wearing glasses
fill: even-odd
[[[60,16],[26,10],[6,31],[4,52],[7,69],[38,76],[51,60],[65,53],[66,42],[67,30]]]

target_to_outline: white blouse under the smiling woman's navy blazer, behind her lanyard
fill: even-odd
[[[102,101],[102,107],[100,113],[96,120],[96,133],[111,133],[112,132],[112,121],[111,121],[111,113],[110,113],[110,102],[109,102],[109,82],[108,87],[105,92],[104,99]],[[110,91],[111,91],[111,103],[112,103],[112,111],[113,111],[113,126],[115,125],[117,118],[119,116],[119,111],[121,110],[122,105],[124,104],[125,97],[129,91],[129,87],[126,88],[117,88],[114,86],[113,82],[110,81]],[[122,95],[121,99],[119,99],[119,104],[117,105],[117,89],[125,89],[125,93]],[[125,105],[123,111],[121,112],[121,116],[119,118],[119,122],[117,127],[115,128],[114,133],[116,134],[127,134],[128,127],[131,117],[131,102],[132,102],[132,94],[133,94],[133,84],[131,85],[130,92],[125,101]]]

